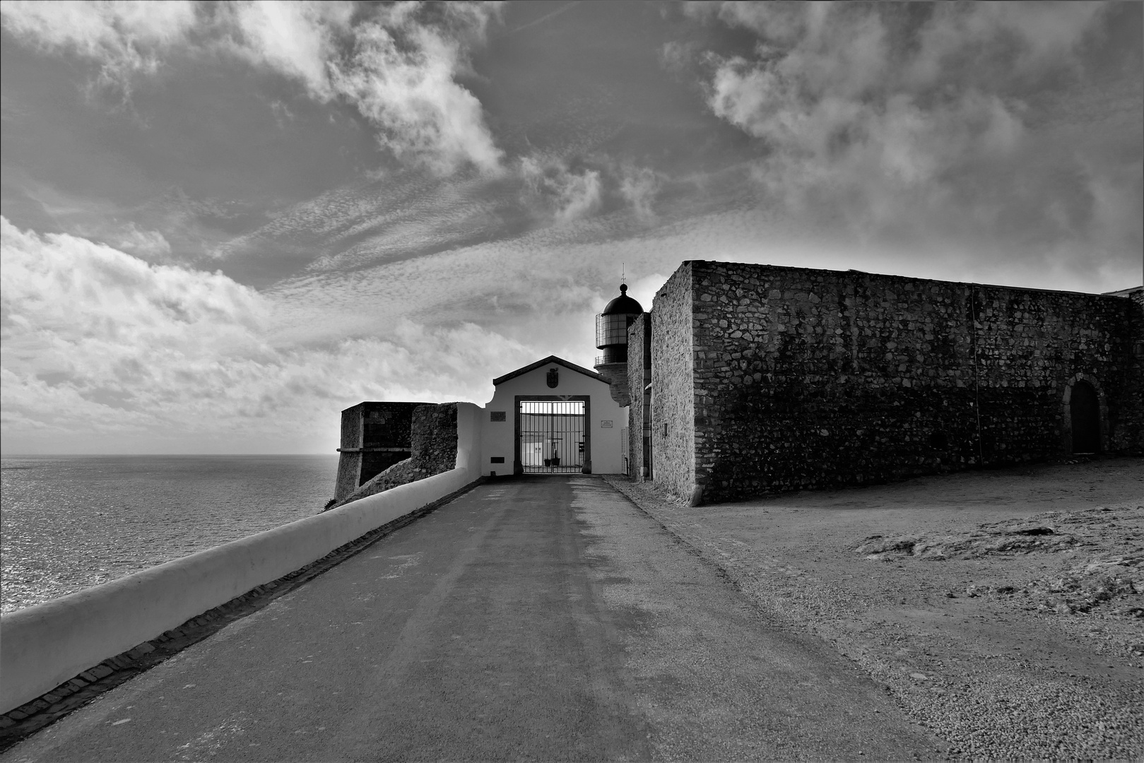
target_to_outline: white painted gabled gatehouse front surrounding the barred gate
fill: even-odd
[[[547,382],[549,368],[559,369],[559,384],[555,389],[550,388]],[[586,422],[586,426],[591,428],[591,470],[595,474],[620,474],[623,471],[625,451],[620,435],[622,428],[627,426],[628,410],[621,408],[612,399],[606,383],[566,366],[553,364],[540,366],[496,386],[493,399],[480,412],[484,430],[480,445],[483,453],[482,474],[487,475],[490,471],[495,471],[498,475],[513,474],[514,448],[516,447],[516,443],[513,440],[516,415],[514,406],[517,395],[590,396],[590,420]],[[505,421],[491,421],[490,412],[492,411],[503,411]],[[611,421],[611,428],[603,427],[601,424],[603,421]],[[496,455],[505,456],[505,463],[490,461]]]

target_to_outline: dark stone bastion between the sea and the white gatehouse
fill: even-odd
[[[383,431],[381,422],[384,421],[394,428],[403,428],[406,421],[403,415],[395,414],[389,419],[375,416],[365,420],[367,423],[370,421],[379,422],[373,427],[371,442],[392,443],[394,446],[407,447],[408,450],[402,455],[407,454],[408,458],[389,466],[348,494],[335,496],[335,502],[326,508],[327,511],[366,495],[432,477],[456,467],[456,403],[442,403],[439,405],[431,403],[362,403],[353,408],[348,408],[348,411],[362,406],[391,406],[388,408],[366,408],[366,411],[382,410],[398,413],[404,413],[405,408],[396,406],[413,406],[410,408],[407,429],[400,432]],[[342,422],[344,426],[344,412]],[[345,455],[348,454],[343,453],[342,458],[344,459]],[[339,470],[339,478],[340,476]],[[339,487],[341,487],[341,483],[339,483]]]

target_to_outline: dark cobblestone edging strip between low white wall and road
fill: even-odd
[[[357,540],[335,548],[320,559],[311,562],[277,580],[257,586],[241,596],[236,596],[225,604],[220,604],[212,610],[207,610],[202,614],[191,618],[177,628],[172,628],[151,641],[145,641],[126,652],[110,657],[31,702],[26,702],[14,710],[0,715],[0,753],[40,729],[55,723],[72,710],[87,705],[103,692],[114,689],[125,681],[151,669],[188,646],[215,634],[231,622],[257,612],[279,596],[288,594],[307,581],[337,566],[394,531],[431,514],[434,510],[469,492],[485,480],[486,477],[478,477],[464,487],[444,498],[427,503],[420,509],[415,509],[367,532]]]

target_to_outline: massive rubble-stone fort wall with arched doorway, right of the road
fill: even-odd
[[[1081,379],[1141,455],[1139,339],[1139,292],[685,262],[652,313],[654,479],[707,502],[1043,460]]]

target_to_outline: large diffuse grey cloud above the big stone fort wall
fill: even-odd
[[[1038,132],[1030,96],[1081,75],[1079,48],[1101,7],[728,2],[689,13],[756,34],[750,55],[707,54],[707,105],[758,140],[768,202],[864,235],[1075,246],[1117,215],[1099,191],[1112,168],[1094,159],[1103,180],[1088,191],[1063,181],[1091,164],[1085,142],[1048,150],[1056,138]],[[1138,153],[1122,158],[1136,166]]]

